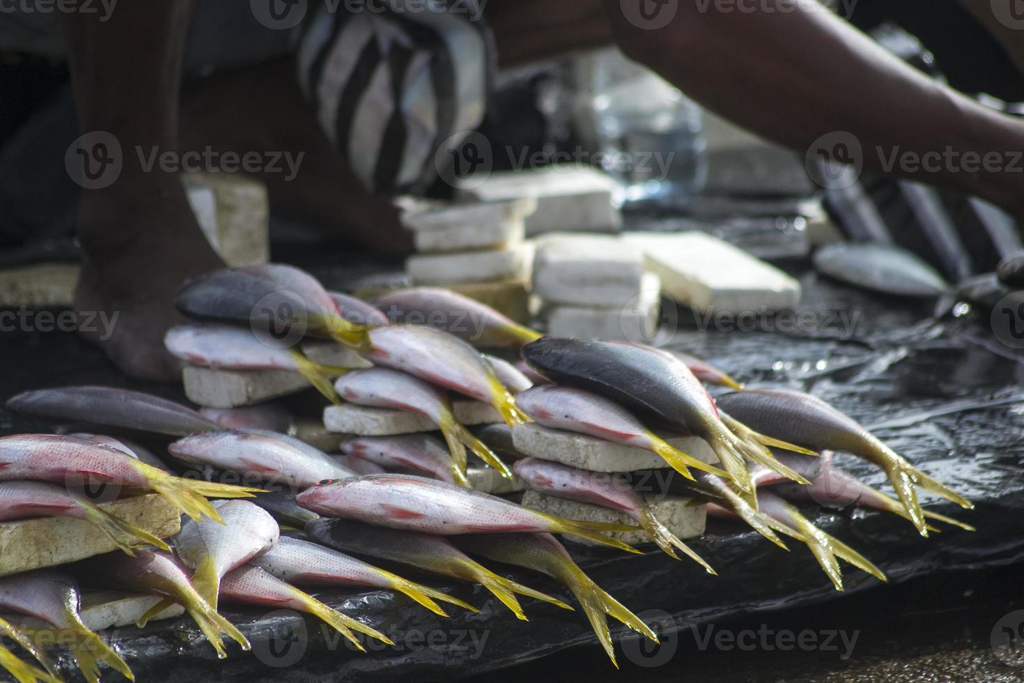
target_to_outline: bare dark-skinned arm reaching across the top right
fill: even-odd
[[[638,28],[620,0],[604,4],[628,55],[708,109],[797,150],[834,131],[853,133],[871,167],[896,148],[924,155],[950,146],[961,156],[1024,150],[1024,123],[929,80],[816,3],[764,0],[721,11],[715,0],[678,0],[660,29]],[[959,187],[1024,219],[1022,173],[967,173],[944,164],[900,174]]]

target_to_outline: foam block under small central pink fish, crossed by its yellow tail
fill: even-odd
[[[502,422],[498,411],[478,400],[454,401],[453,410],[456,420],[464,425]],[[324,426],[328,431],[358,436],[394,436],[437,430],[437,425],[430,419],[417,413],[367,408],[354,403],[329,405],[324,409]]]

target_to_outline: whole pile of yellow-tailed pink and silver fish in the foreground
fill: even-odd
[[[879,579],[884,580],[884,574],[817,528],[791,501],[810,498],[837,506],[856,502],[905,517],[924,536],[937,522],[970,528],[924,511],[916,487],[964,507],[970,503],[813,396],[741,390],[707,364],[652,347],[539,338],[495,311],[439,290],[409,290],[377,302],[422,311],[434,327],[361,326],[346,321],[344,304],[339,307],[334,299],[325,298],[323,288],[311,286],[315,283],[311,278],[282,268],[217,271],[189,285],[179,298],[179,307],[197,317],[239,324],[259,308],[256,304],[268,287],[301,291],[311,298],[290,299],[292,312],[301,312],[295,317],[305,321],[294,343],[306,334],[334,339],[357,349],[373,364],[351,372],[339,369],[333,386],[316,375],[324,393],[418,414],[437,428],[440,437],[418,433],[354,438],[346,443],[346,455],[330,456],[273,431],[287,421],[271,412],[208,414],[217,419],[215,424],[182,405],[96,387],[50,389],[10,399],[9,410],[34,418],[172,436],[177,440],[167,452],[176,462],[201,466],[207,479],[219,472],[234,481],[241,476],[247,484],[178,477],[111,445],[109,437],[30,434],[0,439],[0,481],[45,484],[93,477],[120,484],[126,495],[137,489],[157,492],[190,518],[167,544],[112,523],[105,516],[83,513],[112,532],[116,527],[124,552],[92,558],[67,570],[46,569],[0,581],[0,609],[42,618],[76,634],[70,647],[90,681],[97,679],[98,661],[129,677],[130,672],[82,624],[72,577],[159,596],[162,602],[142,615],[140,625],[168,604],[181,605],[220,656],[228,651],[224,635],[243,649],[248,647],[246,635],[217,613],[220,601],[307,611],[357,644],[361,641],[355,633],[390,642],[383,627],[399,625],[360,624],[301,589],[373,586],[392,589],[438,614],[444,613],[438,601],[476,609],[346,553],[480,584],[519,618],[526,615],[517,595],[572,608],[470,556],[523,566],[568,588],[612,661],[606,615],[656,640],[647,626],[586,577],[554,535],[638,552],[613,535],[642,529],[666,553],[678,557],[682,552],[712,572],[714,558],[706,561],[668,529],[625,479],[600,479],[586,469],[518,458],[514,447],[487,435],[492,431],[501,434],[501,429],[485,430],[483,439],[474,435],[456,419],[452,394],[487,403],[511,428],[513,442],[516,433],[534,427],[536,420],[548,429],[571,430],[656,454],[678,473],[681,490],[708,502],[709,509],[741,520],[779,546],[784,547],[779,535],[806,543],[840,590],[838,559]],[[475,321],[474,329],[455,324],[467,318]],[[470,342],[519,349],[526,365],[512,375],[509,370],[516,370],[512,364],[488,359]],[[288,352],[295,358],[301,355]],[[313,373],[309,376],[312,381]],[[700,380],[738,390],[716,401]],[[536,388],[527,388],[535,383]],[[223,428],[222,424],[257,427]],[[717,462],[705,462],[671,445],[660,436],[667,432],[700,439],[714,454],[705,460]],[[833,466],[829,454],[840,451],[881,467],[897,498],[870,489]],[[558,516],[467,487],[467,452],[503,475],[510,476],[514,469],[546,494],[611,508],[636,521],[639,528]],[[506,462],[509,458],[516,460]],[[22,490],[9,494],[12,498],[0,498],[0,511],[38,516],[54,514],[54,510],[75,514],[82,507],[77,501],[51,504],[46,496],[63,489],[43,492],[37,485],[23,483]],[[837,490],[844,495],[823,496],[823,492]],[[210,504],[208,496],[252,500]],[[283,538],[279,523],[301,538]],[[14,636],[17,644],[15,649],[0,649],[0,666],[23,681],[57,677],[44,653],[16,626],[0,622],[0,630]],[[24,651],[20,658],[17,648]],[[26,656],[35,657],[42,669],[26,664]]]

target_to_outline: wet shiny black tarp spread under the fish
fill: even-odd
[[[715,361],[752,386],[785,386],[820,395],[975,502],[976,510],[967,512],[924,497],[931,509],[978,527],[973,533],[947,527],[928,540],[892,515],[806,508],[828,532],[876,562],[890,582],[1024,559],[1024,366],[1014,352],[984,325],[927,319],[928,304],[867,295],[813,275],[804,280],[803,314],[779,317],[752,311],[741,323],[742,331],[735,331],[740,325],[736,318],[694,317],[670,309],[665,323],[675,328],[679,348]],[[40,386],[118,383],[96,352],[71,335],[30,335],[28,344],[25,337],[13,337],[22,336],[0,339],[10,368],[4,395]],[[171,395],[166,389],[163,393]],[[6,419],[8,431],[32,427]],[[872,484],[885,484],[881,472],[848,456],[838,456],[837,462]],[[644,555],[568,547],[591,578],[663,631],[843,595],[806,547],[796,542],[790,543],[792,552],[784,552],[754,531],[713,521],[707,536],[692,545],[720,575],[711,577],[694,563],[673,560],[653,547]],[[563,588],[540,574],[495,568],[574,603]],[[849,565],[844,570],[847,593],[879,585]],[[216,659],[186,618],[111,635],[143,681],[453,680],[594,641],[579,611],[524,599],[530,621],[519,622],[480,587],[427,581],[479,606],[480,613],[453,607],[452,618],[444,620],[388,592],[317,593],[396,643],[389,647],[365,640],[365,654],[312,618],[273,605],[224,606],[224,613],[254,646],[254,652],[243,653],[231,644],[225,661]],[[618,645],[621,657],[656,663],[671,656],[651,650],[633,634],[623,634],[617,626],[612,630],[625,636]],[[603,655],[595,650],[595,656]]]

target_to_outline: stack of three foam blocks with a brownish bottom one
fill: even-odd
[[[536,210],[536,199],[518,198],[407,211],[402,224],[417,253],[406,270],[417,286],[446,287],[525,323],[531,258],[525,220]]]

